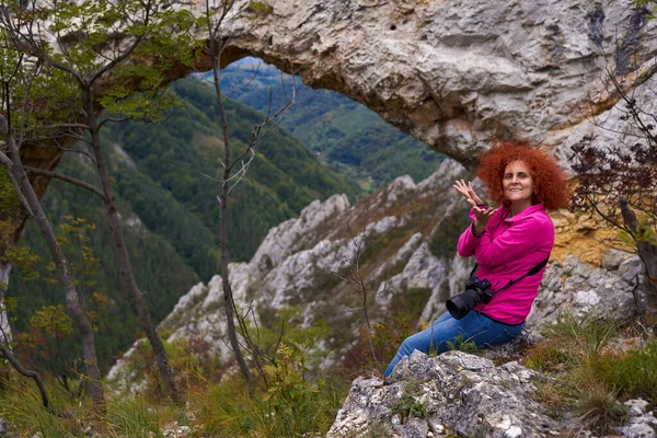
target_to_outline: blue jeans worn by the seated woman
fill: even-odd
[[[445,353],[448,349],[448,343],[457,344],[457,339],[462,336],[463,342],[471,342],[477,347],[484,345],[504,344],[518,336],[525,323],[518,325],[507,325],[493,321],[480,312],[471,311],[461,320],[454,320],[449,312],[445,312],[439,319],[434,321],[431,326],[425,331],[414,334],[404,341],[385,371],[383,377],[390,376],[394,366],[397,365],[404,356],[411,356],[414,350],[429,353]]]

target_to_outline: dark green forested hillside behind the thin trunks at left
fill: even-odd
[[[104,131],[105,140],[113,145],[108,159],[132,266],[155,321],[169,314],[192,285],[217,274],[220,256],[219,183],[214,176],[221,171],[217,152],[223,145],[218,138],[212,90],[196,79],[184,79],[173,83],[171,91],[184,105],[170,111],[165,122],[122,123],[108,125]],[[238,102],[228,102],[227,108],[238,149],[263,115]],[[83,154],[66,155],[58,172],[84,181],[95,177],[93,164]],[[273,130],[258,148],[250,173],[232,194],[231,257],[247,260],[272,227],[297,216],[313,199],[334,193],[355,198],[358,187],[328,171],[284,129]],[[106,369],[114,355],[138,336],[139,324],[120,288],[102,203],[61,181],[51,182],[43,203],[54,223],[60,224],[61,239],[66,239],[65,251],[69,250],[67,256],[76,267],[80,292],[97,327],[99,360]],[[73,218],[83,218],[84,222]],[[43,335],[49,343],[44,354],[55,355],[49,366],[61,370],[68,358],[77,357],[77,344],[70,336],[57,338],[42,333],[34,326],[33,316],[44,306],[62,303],[64,297],[47,266],[47,249],[32,223],[21,244],[31,247],[42,262],[36,265],[38,279],[30,280],[30,273],[14,270],[9,295],[21,301],[14,326],[23,333],[32,330],[30,341]]]

